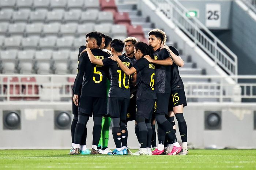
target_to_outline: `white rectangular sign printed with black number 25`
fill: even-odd
[[[206,27],[221,26],[221,5],[206,4]]]

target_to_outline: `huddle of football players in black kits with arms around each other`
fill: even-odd
[[[128,37],[124,42],[98,32],[86,34],[79,48],[78,73],[73,86],[71,155],[187,155],[187,105],[178,67],[178,51],[166,46],[166,34],[154,29],[148,45]],[[122,54],[125,48],[125,53]],[[182,145],[176,138],[174,115]],[[87,122],[93,116],[93,145],[86,147]],[[127,147],[127,121],[135,120],[140,149]],[[158,124],[156,146],[155,122]],[[109,127],[116,149],[108,148]],[[152,146],[152,150],[151,150]]]

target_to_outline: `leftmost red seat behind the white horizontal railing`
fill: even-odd
[[[9,94],[12,96],[10,97],[10,100],[20,100],[22,99],[21,97],[15,97],[15,95],[20,95],[20,84],[19,78],[18,77],[12,77],[10,78],[10,88],[8,89],[8,84],[7,84],[7,77],[3,79],[4,82],[4,94],[7,94],[9,90]]]

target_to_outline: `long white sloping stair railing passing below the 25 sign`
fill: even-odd
[[[151,0],[228,75],[237,75],[237,56],[196,18],[187,18],[188,10],[177,0]],[[202,30],[201,30],[202,29]]]

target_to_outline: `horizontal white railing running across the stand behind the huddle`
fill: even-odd
[[[256,99],[256,76],[181,75],[188,101]],[[34,82],[24,82],[34,78]],[[227,79],[237,79],[230,84]],[[0,75],[0,101],[71,101],[75,75]],[[248,83],[249,82],[249,83]]]

